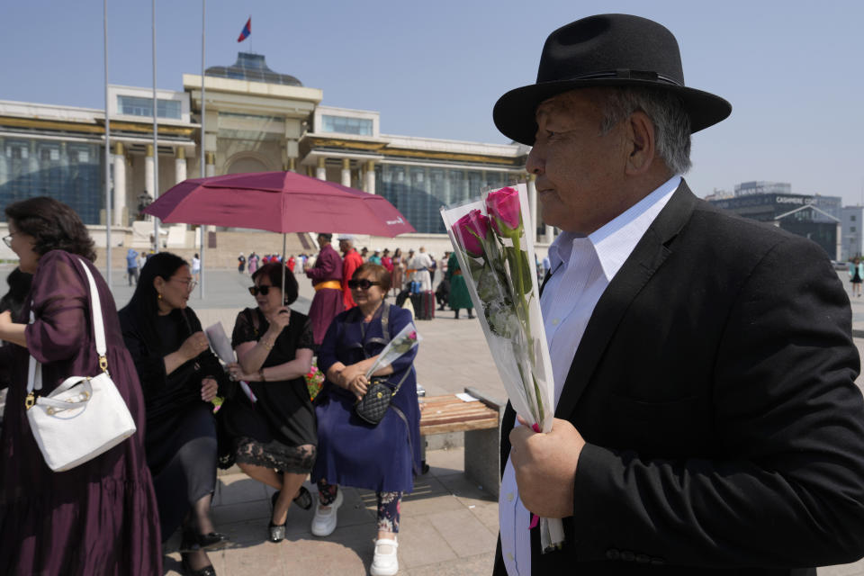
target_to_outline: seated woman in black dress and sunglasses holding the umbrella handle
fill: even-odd
[[[312,364],[314,347],[309,318],[288,305],[297,300],[297,280],[279,263],[257,269],[249,292],[257,308],[238,314],[231,346],[238,362],[229,364],[231,378],[247,383],[220,410],[229,441],[221,465],[236,461],[250,478],[276,489],[269,523],[271,542],[285,537],[292,502],[310,509],[312,497],[303,487],[315,461],[318,437],[315,410],[303,375]],[[244,391],[246,392],[246,391]]]

